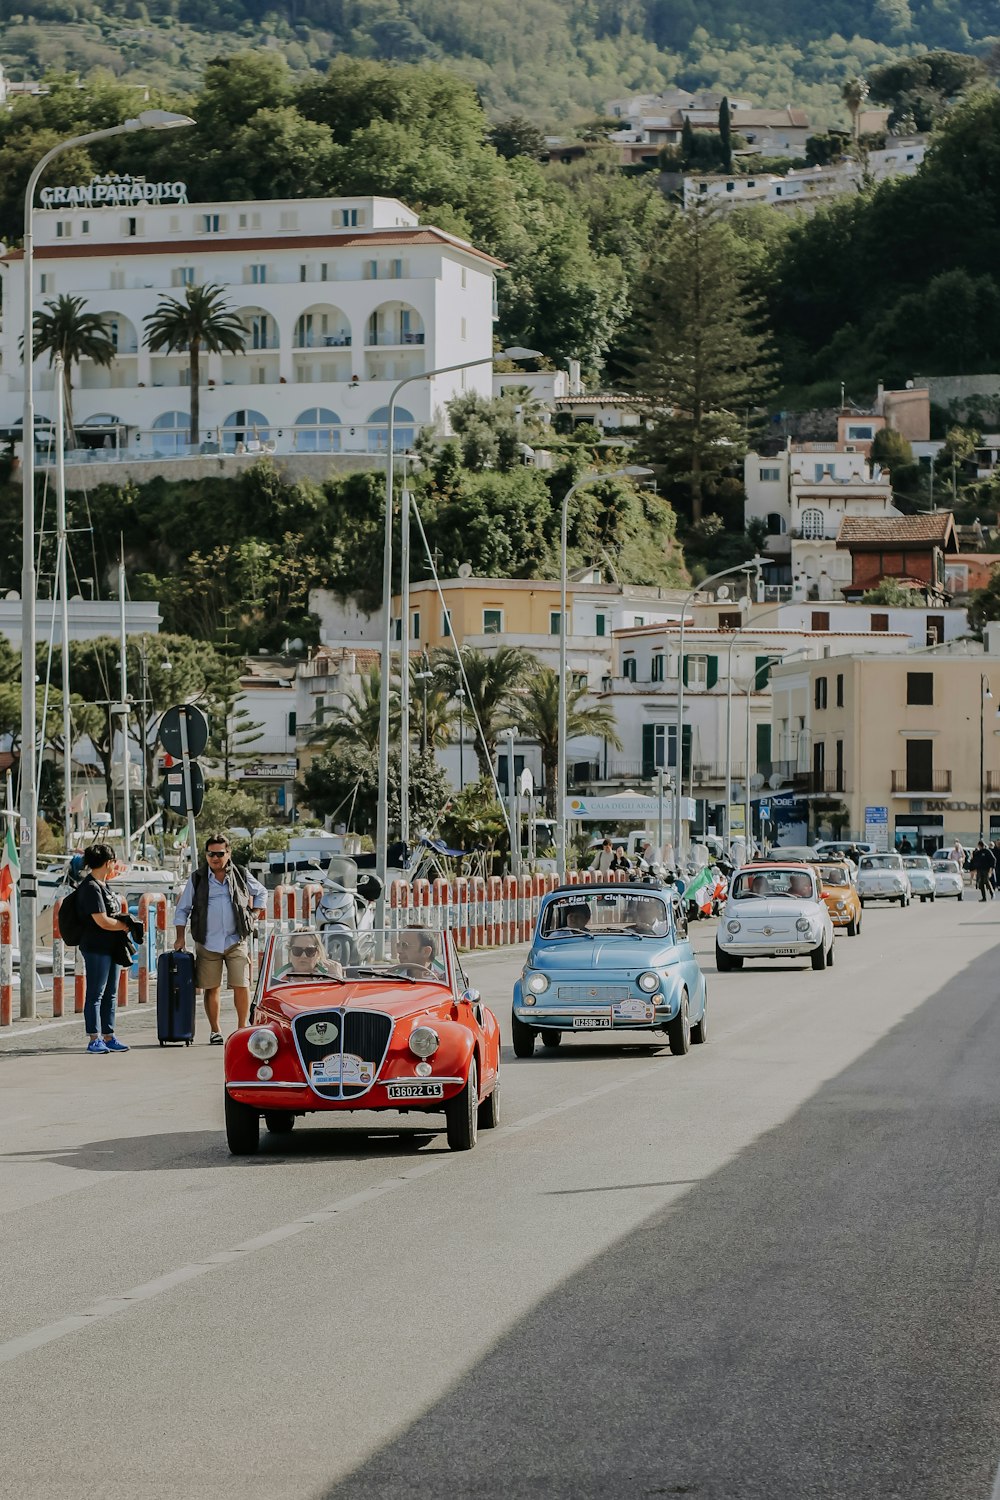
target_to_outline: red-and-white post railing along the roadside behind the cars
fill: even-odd
[[[594,885],[595,882],[622,882],[625,874],[600,874],[577,870],[568,876],[568,885]],[[388,886],[385,926],[399,930],[411,922],[420,922],[435,932],[451,928],[459,948],[504,948],[510,944],[528,942],[538,908],[549,891],[559,884],[555,874],[457,876],[454,880],[393,880]],[[270,892],[265,930],[277,927],[288,930],[315,916],[322,897],[321,885],[279,885]],[[58,930],[58,908],[52,909],[52,1018],[64,1014],[66,1004],[66,944]],[[156,974],[156,962],[171,946],[174,908],[166,896],[147,892],[139,898],[139,921],[145,938],[139,944],[135,998],[147,1005],[154,996],[150,975]],[[10,1026],[13,1018],[13,945],[12,914],[6,902],[0,902],[0,1028]],[[255,933],[256,939],[256,933]],[[258,968],[262,956],[258,948]],[[85,975],[79,948],[73,948],[73,1014],[84,1010]],[[150,993],[153,988],[153,993]],[[123,969],[118,978],[118,1006],[129,1004],[130,970]]]

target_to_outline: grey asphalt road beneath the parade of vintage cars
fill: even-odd
[[[697,938],[708,1046],[505,1050],[463,1155],[232,1161],[204,1041],[1,1040],[0,1496],[988,1500],[1000,906],[870,908],[825,974]],[[505,1032],[520,956],[469,957]]]

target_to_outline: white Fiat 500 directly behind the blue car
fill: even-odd
[[[816,870],[804,864],[745,864],[733,876],[718,921],[715,968],[742,969],[744,958],[808,958],[834,963],[834,922]]]

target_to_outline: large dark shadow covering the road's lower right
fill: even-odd
[[[324,1500],[988,1496],[999,1072],[994,951]]]

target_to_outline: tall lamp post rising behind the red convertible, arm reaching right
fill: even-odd
[[[384,536],[382,536],[382,642],[381,642],[381,684],[379,684],[379,704],[378,704],[378,819],[375,826],[375,870],[382,878],[387,879],[388,870],[388,735],[390,735],[390,680],[393,670],[393,480],[394,480],[394,447],[396,447],[396,400],[400,390],[405,386],[411,386],[418,380],[433,380],[436,375],[453,375],[456,370],[475,369],[478,364],[492,364],[496,358],[510,360],[528,360],[538,358],[538,350],[522,350],[519,346],[502,350],[499,354],[493,354],[489,358],[478,360],[459,360],[457,364],[439,364],[432,370],[421,370],[418,375],[406,375],[403,380],[396,381],[388,396],[388,417],[385,423],[385,438],[387,438],[387,453],[385,453],[385,520],[384,520]],[[400,548],[400,568],[403,579],[409,579],[409,494],[403,489],[403,510],[405,514],[400,516],[400,534],[406,543],[406,550]],[[409,588],[406,586],[406,598],[409,598]],[[409,621],[403,621],[403,656],[408,651],[408,632]],[[400,694],[403,702],[400,702],[400,732],[402,746],[408,746],[409,735],[409,694],[403,692]],[[400,753],[400,774],[403,766],[408,768],[409,753],[403,748]],[[406,800],[400,795],[400,814],[405,812],[405,819],[400,816],[400,838],[409,849],[409,808],[406,807]],[[384,896],[379,897],[378,918],[381,922],[384,914]]]

